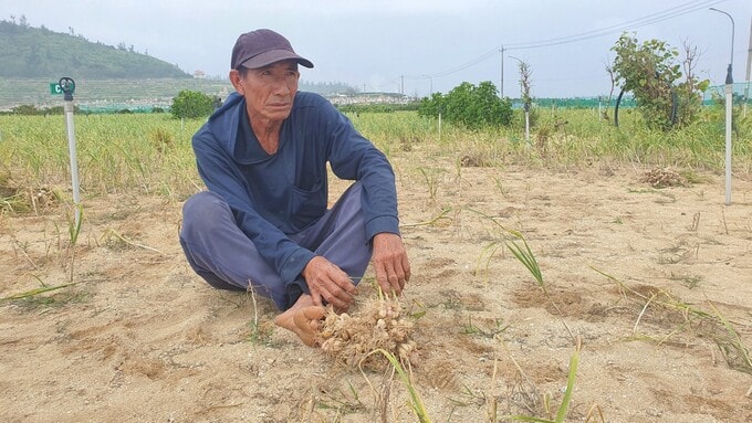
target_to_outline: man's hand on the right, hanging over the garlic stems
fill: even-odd
[[[376,282],[385,294],[401,294],[410,279],[410,263],[407,260],[403,239],[395,233],[378,233],[374,236],[374,272]]]

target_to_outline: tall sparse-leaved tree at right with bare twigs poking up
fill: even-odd
[[[612,47],[616,52],[613,72],[624,92],[635,95],[637,107],[649,127],[669,130],[687,125],[699,115],[700,96],[709,82],[698,82],[691,73],[696,51],[686,46],[689,66],[681,78],[681,65],[676,63],[679,52],[666,42],[648,40],[638,44],[635,36],[622,34]]]

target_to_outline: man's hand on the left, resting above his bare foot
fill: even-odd
[[[309,284],[314,305],[322,306],[326,302],[335,310],[345,311],[353,304],[353,296],[356,294],[353,281],[328,260],[322,256],[311,258],[302,274]]]

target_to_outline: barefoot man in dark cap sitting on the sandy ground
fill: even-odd
[[[238,38],[237,93],[192,139],[208,191],[184,205],[180,244],[219,289],[254,289],[282,310],[274,322],[315,345],[324,305],[344,311],[373,261],[386,293],[410,278],[386,157],[325,98],[297,92],[313,67],[271,30]],[[327,210],[327,168],[355,182]]]

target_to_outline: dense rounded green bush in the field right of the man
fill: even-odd
[[[469,129],[499,127],[512,120],[512,104],[499,98],[497,87],[491,82],[478,86],[463,82],[446,96],[434,93],[420,102],[419,116],[441,117],[455,125]]]

